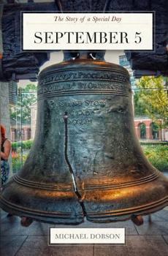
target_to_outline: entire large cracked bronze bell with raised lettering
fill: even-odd
[[[168,205],[168,179],[135,135],[129,73],[93,54],[66,53],[40,72],[34,145],[1,193],[4,211],[79,224],[134,221]]]

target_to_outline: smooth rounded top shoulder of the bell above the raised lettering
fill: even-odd
[[[48,75],[52,72],[58,72],[63,71],[64,69],[108,69],[109,71],[114,72],[120,72],[123,75],[126,75],[128,78],[130,77],[129,72],[124,67],[110,63],[107,61],[100,61],[100,60],[93,60],[93,59],[75,59],[75,60],[69,60],[69,61],[61,61],[58,64],[50,65],[49,67],[45,67],[45,69],[42,69],[41,72],[39,72],[39,78],[42,75]]]

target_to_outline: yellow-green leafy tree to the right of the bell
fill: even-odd
[[[168,127],[168,97],[164,78],[142,77],[134,94],[135,116],[148,116],[159,127]]]

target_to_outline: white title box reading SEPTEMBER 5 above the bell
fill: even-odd
[[[153,13],[23,12],[23,50],[153,50]]]

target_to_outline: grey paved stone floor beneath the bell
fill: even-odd
[[[48,246],[49,224],[33,222],[29,227],[22,227],[19,217],[7,217],[7,214],[1,211],[1,256],[167,256],[168,207],[152,214],[152,223],[148,222],[148,217],[144,217],[144,221],[140,227],[131,221],[108,224],[84,222],[80,225],[126,227],[127,246]]]

